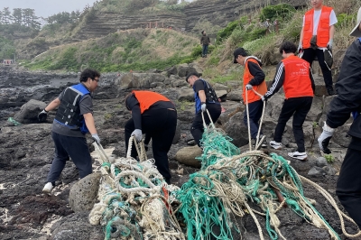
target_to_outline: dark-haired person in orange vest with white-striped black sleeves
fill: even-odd
[[[289,152],[292,158],[306,161],[307,153],[304,146],[302,125],[312,105],[315,83],[310,70],[310,63],[295,56],[297,47],[292,42],[283,42],[280,53],[283,60],[277,65],[272,87],[264,94],[265,101],[283,86],[284,100],[281,114],[270,145],[274,149],[282,148],[282,134],[287,121],[293,115],[292,129],[297,143],[297,151]]]

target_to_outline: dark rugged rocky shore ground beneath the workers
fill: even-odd
[[[51,139],[51,115],[48,123],[42,124],[15,126],[7,121],[9,117],[19,114],[21,106],[31,99],[48,104],[67,85],[78,82],[77,74],[34,73],[25,72],[22,69],[2,69],[0,77],[0,239],[104,239],[101,227],[91,226],[88,223],[88,212],[74,213],[70,208],[69,192],[79,181],[78,171],[71,161],[67,162],[52,194],[42,194],[54,153]],[[116,84],[117,78],[119,76],[116,73],[102,76],[100,87],[94,93],[94,116],[103,146],[114,148],[113,154],[116,156],[124,156],[124,125],[131,117],[129,111],[125,109],[124,99],[131,89],[124,89],[120,83]],[[18,82],[15,86],[14,79]],[[167,79],[169,78],[167,77],[164,81],[166,82]],[[241,88],[237,87],[239,85],[233,83],[233,86],[234,93],[241,93]],[[32,90],[27,88],[32,88]],[[191,173],[199,171],[175,159],[176,152],[186,147],[187,142],[192,139],[190,125],[194,115],[194,103],[190,102],[190,98],[184,101],[179,100],[182,89],[181,87],[173,88],[171,84],[167,85],[167,88],[152,89],[169,97],[177,106],[179,140],[174,142],[169,152],[171,180],[177,186],[189,180]],[[314,124],[318,120],[317,117],[319,121],[326,118],[327,112],[323,111],[322,106],[328,105],[319,103],[329,102],[329,98],[331,97],[315,97],[315,105],[312,106],[313,109],[306,119],[304,130],[309,154],[307,162],[292,160],[287,156],[287,152],[292,152],[295,147],[292,125],[290,125],[292,120],[284,133],[283,139],[287,144],[283,149],[276,151],[267,148],[264,151],[282,155],[291,162],[292,167],[299,174],[327,189],[338,202],[335,187],[346,148],[341,147],[341,143],[331,140],[334,163],[325,161],[326,159],[321,158],[317,147],[317,136],[321,129],[319,125]],[[236,101],[230,101],[228,98],[227,102],[222,103],[226,112],[222,114],[224,116],[217,125],[235,139],[234,143],[241,147],[241,151],[245,151],[248,148],[245,145],[248,142],[247,130],[243,124],[245,106],[239,102],[239,98],[234,96],[231,99]],[[281,106],[282,95],[274,96],[267,103],[264,115],[264,134],[267,136],[267,142],[272,140]],[[53,115],[54,113],[52,117]],[[89,150],[93,151],[94,147],[91,143],[92,140],[88,137]],[[147,154],[148,158],[153,157],[152,147]],[[95,171],[99,166],[98,162],[94,162]],[[309,174],[313,170],[319,171],[319,174]],[[341,236],[341,239],[347,239],[342,235],[336,211],[327,200],[307,184],[304,184],[304,192],[306,197],[316,200],[315,208]],[[339,204],[338,207],[343,209]],[[256,206],[252,208],[257,209]],[[281,220],[280,230],[287,239],[329,239],[326,230],[305,222],[290,208],[282,208],[278,216]],[[243,239],[259,239],[257,227],[251,216],[246,215],[236,219],[236,225],[241,229]],[[257,216],[257,219],[263,227],[265,239],[269,239],[265,230],[264,217]],[[351,226],[348,222],[346,222],[346,228],[349,233],[356,233],[355,226]],[[234,239],[240,239],[240,235],[236,235]]]

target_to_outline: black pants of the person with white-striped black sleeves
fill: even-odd
[[[281,143],[282,134],[287,121],[293,115],[292,129],[293,135],[297,143],[298,152],[306,152],[304,147],[304,135],[302,125],[306,118],[306,115],[310,111],[313,97],[292,97],[284,100],[281,114],[278,117],[278,123],[276,130],[274,131],[273,140],[277,143]]]

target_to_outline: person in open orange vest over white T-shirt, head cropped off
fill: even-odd
[[[335,24],[338,23],[332,7],[322,5],[323,0],[311,0],[313,8],[303,16],[298,51],[303,51],[302,59],[310,65],[317,57],[329,96],[335,95],[332,87],[331,66],[325,62],[323,51],[332,50]]]

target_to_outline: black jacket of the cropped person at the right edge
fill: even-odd
[[[361,42],[359,39],[353,42],[346,51],[335,88],[338,96],[330,103],[326,121],[326,124],[332,128],[344,125],[352,112],[361,112]],[[347,134],[361,138],[361,116],[354,120]]]

